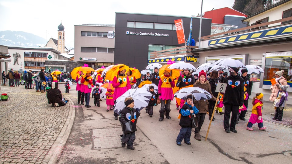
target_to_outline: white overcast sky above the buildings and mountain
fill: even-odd
[[[203,13],[229,7],[234,0],[203,0]],[[65,46],[74,47],[74,25],[115,24],[115,12],[192,16],[201,12],[201,0],[0,0],[0,31],[24,31],[45,39],[57,39],[60,22]],[[44,45],[46,43],[43,43]]]

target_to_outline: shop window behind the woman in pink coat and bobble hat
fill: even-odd
[[[287,81],[292,81],[292,56],[266,57],[264,80],[275,78],[275,73],[284,70],[283,77]]]

